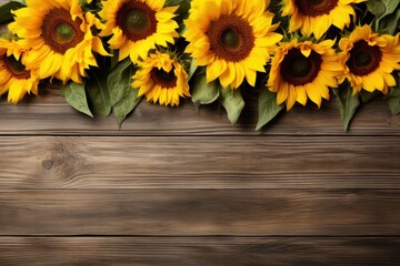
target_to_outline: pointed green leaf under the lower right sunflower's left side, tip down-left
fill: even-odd
[[[261,130],[261,127],[276,117],[282,109],[284,109],[284,104],[277,103],[277,94],[268,90],[267,86],[262,88],[259,96],[259,120],[256,130]]]

